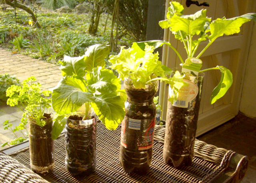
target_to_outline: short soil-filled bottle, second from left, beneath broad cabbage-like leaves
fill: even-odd
[[[96,168],[96,120],[70,116],[65,128],[66,168],[71,175],[89,175]]]

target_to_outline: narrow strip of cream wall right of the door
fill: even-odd
[[[252,30],[239,110],[248,117],[256,118],[256,23]]]

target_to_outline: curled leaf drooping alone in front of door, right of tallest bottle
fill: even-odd
[[[233,83],[233,76],[229,69],[223,66],[217,66],[216,68],[220,69],[221,79],[220,83],[212,91],[212,96],[210,98],[211,104],[214,104],[214,102],[224,96]]]

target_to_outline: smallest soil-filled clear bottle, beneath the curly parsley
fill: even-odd
[[[44,114],[45,126],[29,121],[30,167],[38,174],[51,173],[54,169],[54,141],[52,140],[52,117]]]

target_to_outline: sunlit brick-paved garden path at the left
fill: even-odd
[[[5,73],[15,75],[20,81],[34,76],[42,84],[42,90],[52,90],[62,78],[59,66],[46,61],[33,59],[26,55],[12,54],[0,47],[0,75]],[[3,123],[10,120],[13,126],[20,123],[22,111],[6,104],[0,106],[0,144],[14,139],[12,132],[4,130]],[[5,146],[4,148],[7,148]],[[0,147],[0,150],[4,149]]]

